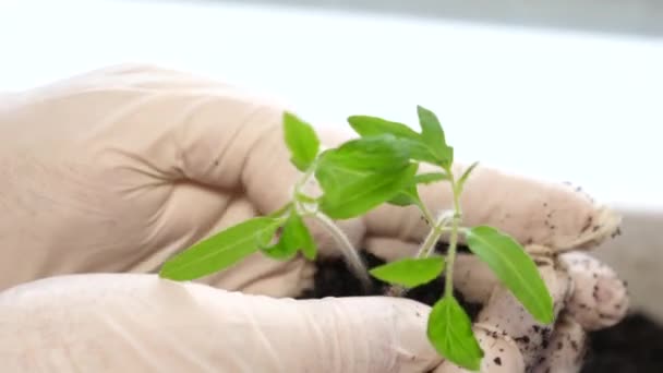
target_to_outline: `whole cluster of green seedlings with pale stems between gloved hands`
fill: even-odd
[[[284,116],[284,140],[291,164],[302,172],[292,197],[278,210],[234,225],[168,260],[159,275],[193,280],[227,269],[249,255],[262,252],[286,261],[298,254],[315,260],[316,245],[305,224],[315,219],[336,240],[352,272],[365,284],[370,276],[393,286],[391,296],[445,276],[443,297],[427,320],[427,338],[442,357],[468,370],[479,370],[483,351],[472,332],[471,320],[454,297],[454,262],[460,237],[469,250],[494,272],[518,301],[541,323],[553,322],[553,300],[534,262],[511,237],[490,226],[462,225],[460,196],[477,164],[459,177],[453,170],[454,148],[446,142],[436,115],[417,108],[421,132],[370,116],[348,118],[358,139],[321,152],[311,124],[292,113]],[[421,164],[434,172],[418,172]],[[315,179],[322,190],[305,190]],[[450,190],[453,205],[433,214],[419,196],[420,184],[441,183]],[[387,263],[370,270],[335,220],[362,216],[383,205],[415,206],[431,230],[414,257]],[[448,234],[445,255],[435,244]]]

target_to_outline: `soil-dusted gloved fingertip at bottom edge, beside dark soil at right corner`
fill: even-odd
[[[569,315],[563,314],[532,373],[580,372],[587,353],[587,333],[582,326]]]

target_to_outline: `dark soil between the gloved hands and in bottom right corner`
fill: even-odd
[[[369,268],[384,263],[374,255],[362,255]],[[301,298],[378,296],[387,288],[386,284],[373,279],[372,288],[364,291],[342,261],[327,261],[318,264],[314,289]],[[444,279],[439,278],[408,291],[406,298],[433,305],[443,289]],[[465,302],[459,293],[456,297],[473,318],[480,311],[479,305]],[[663,325],[642,314],[629,315],[613,327],[590,333],[589,337],[589,351],[581,373],[663,373]]]

